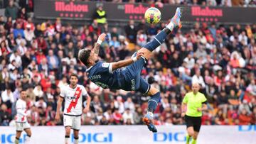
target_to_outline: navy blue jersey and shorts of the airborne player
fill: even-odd
[[[103,89],[123,89],[126,91],[142,91],[146,92],[149,86],[143,82],[144,89],[140,87],[142,77],[140,72],[144,64],[144,60],[138,60],[128,67],[112,70],[112,63],[97,62],[90,67],[87,72],[88,78]],[[142,65],[142,66],[139,66]]]

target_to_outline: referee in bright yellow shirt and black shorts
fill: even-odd
[[[192,137],[191,144],[196,144],[196,139],[201,127],[202,111],[207,109],[206,96],[198,92],[200,85],[198,83],[192,84],[192,91],[188,92],[182,101],[181,116],[185,116],[187,133],[186,144],[189,144]]]

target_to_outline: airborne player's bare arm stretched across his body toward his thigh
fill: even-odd
[[[112,70],[117,70],[121,67],[126,67],[127,65],[131,65],[133,62],[136,62],[137,60],[139,60],[140,57],[142,57],[142,55],[144,55],[143,52],[137,52],[136,57],[132,57],[129,58],[128,60],[120,60],[118,62],[112,62]]]

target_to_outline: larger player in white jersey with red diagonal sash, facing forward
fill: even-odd
[[[82,110],[82,96],[87,96],[87,104]],[[70,75],[70,84],[60,89],[55,120],[60,120],[60,107],[65,99],[63,123],[65,126],[65,144],[70,141],[70,129],[74,131],[75,144],[78,144],[78,135],[81,126],[81,115],[90,110],[91,98],[85,87],[78,84],[78,75]]]

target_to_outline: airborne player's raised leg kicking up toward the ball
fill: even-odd
[[[181,28],[181,15],[181,8],[178,7],[174,17],[171,18],[171,22],[166,26],[166,28],[164,28],[164,30],[158,33],[153,40],[151,40],[142,49],[139,50],[139,52],[144,52],[144,57],[146,59],[149,59],[153,50],[164,43],[166,36],[169,35],[169,33],[171,33],[174,28]]]

